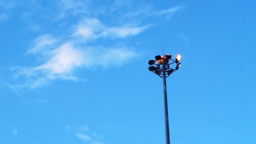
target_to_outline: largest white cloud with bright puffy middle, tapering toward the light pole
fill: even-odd
[[[23,80],[23,83],[8,86],[18,91],[21,88],[39,88],[56,79],[84,81],[85,79],[74,76],[77,68],[94,69],[97,67],[121,66],[140,55],[140,53],[124,47],[77,48],[72,43],[64,43],[44,53],[47,53],[45,56],[47,57],[47,61],[43,64],[29,68],[11,68],[15,73],[13,79],[16,81]],[[101,60],[96,61],[94,56],[98,56]]]

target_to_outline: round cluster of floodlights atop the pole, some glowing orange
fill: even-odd
[[[148,62],[150,65],[149,71],[154,72],[159,77],[163,77],[163,75],[165,75],[165,77],[170,76],[181,66],[181,56],[179,54],[176,56],[175,60],[171,59],[171,57],[172,56],[169,54],[165,54],[165,56],[155,56],[155,60],[149,60]],[[165,72],[163,71],[163,67],[165,67]]]

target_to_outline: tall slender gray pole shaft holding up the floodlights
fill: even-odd
[[[165,107],[165,140],[166,144],[170,144],[170,132],[169,132],[169,118],[168,118],[168,101],[167,101],[167,90],[166,90],[166,77],[165,77],[165,66],[166,61],[163,61],[163,97]]]

